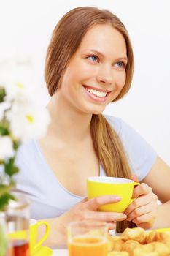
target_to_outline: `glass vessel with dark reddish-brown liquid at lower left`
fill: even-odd
[[[30,256],[29,218],[30,202],[25,195],[13,193],[16,200],[11,200],[6,211],[7,230],[13,256]]]

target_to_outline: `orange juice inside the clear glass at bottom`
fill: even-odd
[[[77,236],[69,242],[69,256],[107,256],[107,241],[93,236]]]

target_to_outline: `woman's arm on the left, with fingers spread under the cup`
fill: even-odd
[[[50,225],[50,235],[45,241],[47,246],[66,245],[66,226],[69,222],[81,221],[83,219],[96,219],[98,221],[108,222],[109,228],[114,229],[117,221],[126,219],[126,215],[116,212],[97,211],[99,206],[107,203],[117,203],[120,197],[116,195],[103,195],[88,200],[85,198],[80,203],[77,203],[69,211],[66,211],[60,217],[54,219],[43,219]],[[38,239],[45,232],[45,227],[39,227]]]

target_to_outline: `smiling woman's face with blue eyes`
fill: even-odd
[[[56,94],[69,109],[101,113],[123,89],[127,61],[123,35],[110,25],[93,26],[69,61]]]

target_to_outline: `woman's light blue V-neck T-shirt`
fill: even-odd
[[[149,173],[157,154],[152,147],[120,118],[105,116],[123,142],[133,173],[141,181]],[[31,140],[20,146],[17,157],[20,173],[15,176],[17,189],[31,199],[31,218],[58,217],[83,197],[65,189],[47,164],[39,143]],[[100,166],[100,176],[106,176]]]

